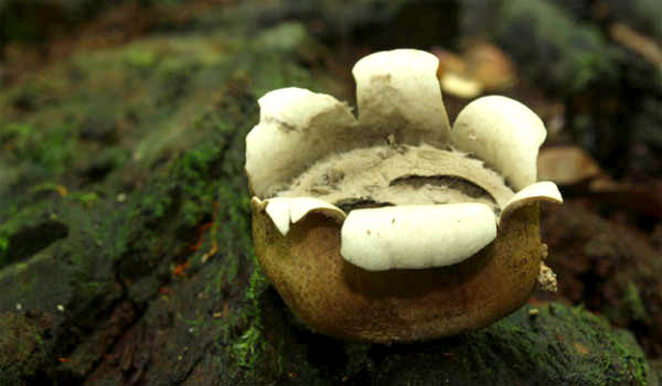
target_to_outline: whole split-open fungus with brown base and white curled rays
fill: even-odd
[[[451,127],[437,65],[416,50],[359,61],[357,120],[307,89],[259,99],[246,138],[255,251],[314,331],[452,335],[505,317],[535,288],[537,202],[562,202],[536,182],[545,127],[501,96],[470,103]]]

